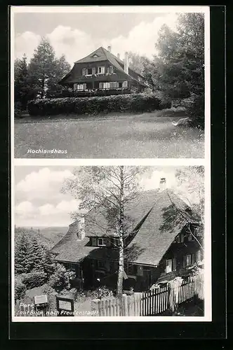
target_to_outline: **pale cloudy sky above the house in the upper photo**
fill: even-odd
[[[121,59],[125,51],[152,58],[159,29],[166,24],[175,30],[176,20],[175,13],[15,13],[14,54],[30,59],[44,36],[71,65],[109,45]]]

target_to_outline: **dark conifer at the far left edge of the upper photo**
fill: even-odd
[[[15,109],[27,109],[27,102],[34,96],[29,84],[29,74],[27,68],[27,57],[15,59],[14,64],[14,101]]]

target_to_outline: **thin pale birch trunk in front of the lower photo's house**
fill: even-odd
[[[119,297],[123,293],[123,273],[124,273],[124,167],[120,167],[121,190],[120,190],[120,219],[119,219],[119,270],[116,287],[116,295]]]

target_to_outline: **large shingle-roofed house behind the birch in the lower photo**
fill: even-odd
[[[148,290],[154,283],[166,283],[175,276],[187,276],[194,266],[202,264],[203,251],[196,239],[199,221],[191,209],[171,190],[160,188],[140,193],[130,207],[130,233],[124,237],[124,289]],[[182,210],[183,219],[171,223],[170,210]],[[51,253],[55,261],[74,269],[84,287],[116,287],[119,250],[118,234],[106,232],[105,217],[93,209],[69,230]],[[192,232],[192,233],[190,233]]]

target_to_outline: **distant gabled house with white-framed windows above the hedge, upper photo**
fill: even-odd
[[[108,50],[98,48],[74,63],[72,70],[59,82],[74,96],[95,96],[142,92],[145,78],[128,66],[128,52],[124,61]],[[63,92],[65,93],[65,91]]]

